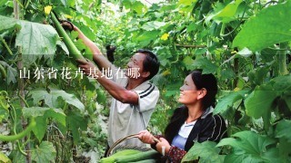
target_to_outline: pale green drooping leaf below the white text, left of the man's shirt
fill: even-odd
[[[37,104],[41,100],[45,100],[45,104],[51,108],[59,108],[60,101],[58,98],[63,99],[66,103],[74,105],[79,110],[85,110],[84,104],[79,101],[74,94],[69,94],[65,91],[30,91],[29,94],[34,99],[34,103]]]

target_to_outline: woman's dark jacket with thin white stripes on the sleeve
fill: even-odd
[[[203,115],[196,120],[186,140],[185,150],[171,147],[168,152],[168,157],[171,159],[171,162],[180,162],[186,155],[186,151],[191,149],[196,141],[200,143],[206,140],[219,142],[220,139],[226,138],[225,120],[218,114],[213,115],[212,111],[212,107],[206,109]],[[187,117],[188,110],[186,106],[175,110],[165,130],[165,138],[170,144],[172,144],[173,139],[178,134],[179,129],[185,123]]]

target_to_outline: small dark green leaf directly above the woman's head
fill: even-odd
[[[206,73],[215,73],[217,70],[216,64],[210,62],[206,58],[198,58],[193,62],[194,69],[203,69],[203,74]]]

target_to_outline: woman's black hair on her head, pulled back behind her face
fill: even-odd
[[[195,70],[190,73],[194,84],[198,90],[206,89],[206,96],[202,99],[203,109],[215,107],[217,82],[216,77],[212,73],[202,74],[202,70]]]

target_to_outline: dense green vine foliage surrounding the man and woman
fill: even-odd
[[[174,0],[150,6],[138,0],[17,2],[19,20],[13,1],[0,0],[0,120],[11,135],[31,118],[37,123],[5,153],[14,162],[86,160],[82,152],[93,153],[89,158],[96,161],[106,147],[110,97],[94,80],[77,74],[44,12],[47,5],[99,47],[114,44],[116,65],[125,66],[139,48],[157,53],[161,69],[153,82],[161,100],[150,122],[153,133],[165,129],[179,105],[176,96],[188,72],[202,68],[216,75],[215,113],[227,120],[229,138],[217,145],[196,143],[183,161],[290,162],[290,0]],[[76,34],[70,36],[75,40]],[[92,57],[82,42],[75,45]],[[24,67],[68,67],[73,78],[57,73],[53,80],[21,80]]]

